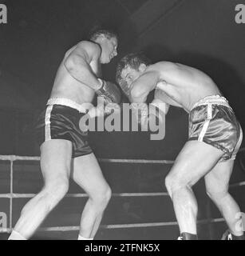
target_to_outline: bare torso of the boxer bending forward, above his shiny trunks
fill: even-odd
[[[124,71],[124,77],[127,74]],[[130,78],[130,74],[128,78]],[[183,107],[187,112],[201,98],[214,94],[221,95],[219,88],[207,74],[179,63],[157,62],[147,66],[144,73],[138,79],[134,79],[132,74],[131,92],[133,88],[136,89],[136,87],[144,86],[144,81],[145,84],[152,81],[151,90],[155,87],[161,90],[160,97],[163,102]]]

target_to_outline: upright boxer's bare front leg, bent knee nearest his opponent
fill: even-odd
[[[73,161],[73,179],[89,195],[81,215],[80,235],[94,238],[111,198],[111,190],[93,153]]]

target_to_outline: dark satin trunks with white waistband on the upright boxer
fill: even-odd
[[[38,117],[36,137],[38,144],[51,139],[65,139],[73,144],[73,158],[92,153],[88,132],[81,131],[79,121],[85,108],[67,98],[50,98],[46,109]]]

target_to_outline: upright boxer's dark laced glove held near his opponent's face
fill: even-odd
[[[107,103],[117,103],[121,102],[121,91],[113,82],[106,82],[98,78],[101,82],[101,88],[96,91],[98,96],[104,97]]]

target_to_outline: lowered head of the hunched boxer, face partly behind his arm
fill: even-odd
[[[127,54],[124,58],[121,58],[121,61],[117,64],[116,80],[124,94],[128,96],[132,82],[144,73],[149,64],[149,59],[140,53]]]

